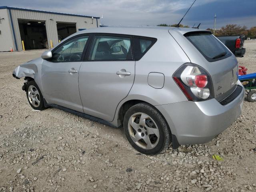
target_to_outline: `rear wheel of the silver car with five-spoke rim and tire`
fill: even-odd
[[[143,154],[159,154],[171,143],[168,124],[150,104],[139,103],[129,108],[124,115],[123,125],[130,144]]]

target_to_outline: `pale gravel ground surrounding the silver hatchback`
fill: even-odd
[[[245,48],[238,61],[255,72],[256,40]],[[0,53],[0,192],[256,191],[256,102],[245,101],[240,118],[207,144],[146,156],[120,129],[54,108],[33,111],[12,70],[41,53]]]

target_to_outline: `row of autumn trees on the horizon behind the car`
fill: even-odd
[[[159,24],[158,26],[169,26],[169,27],[175,27],[177,24],[173,25],[167,25],[167,24]],[[180,24],[180,27],[189,27],[189,26],[183,26]],[[206,30],[210,30],[213,33],[213,29],[208,28]],[[246,26],[239,26],[237,24],[227,24],[226,26],[223,26],[220,29],[215,30],[215,36],[224,36],[224,35],[245,35],[246,37],[249,37],[251,39],[256,38],[256,26],[251,27],[248,29]]]

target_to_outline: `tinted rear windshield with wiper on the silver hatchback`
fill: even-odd
[[[184,36],[200,51],[209,62],[221,60],[232,54],[211,33],[190,32]]]

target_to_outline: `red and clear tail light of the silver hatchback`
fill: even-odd
[[[183,64],[173,79],[190,101],[214,98],[212,79],[206,70],[196,64]]]

